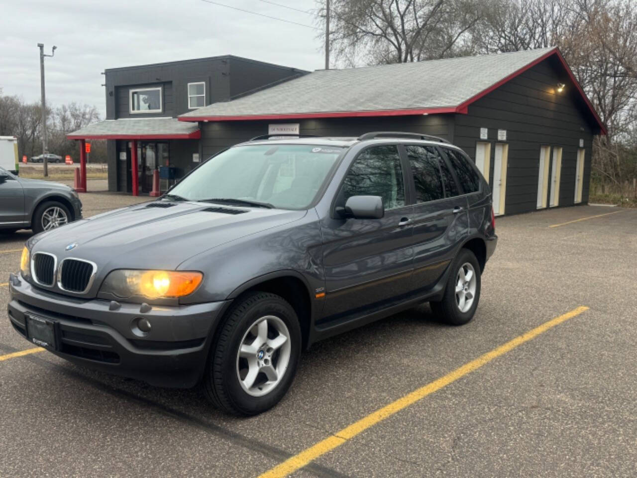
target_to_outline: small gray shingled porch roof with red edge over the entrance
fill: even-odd
[[[196,123],[185,123],[175,118],[136,118],[103,120],[89,124],[67,135],[68,138],[101,138],[118,136],[122,139],[166,138],[166,136],[199,137]]]

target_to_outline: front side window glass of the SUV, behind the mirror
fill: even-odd
[[[385,210],[404,206],[403,169],[396,146],[375,146],[364,150],[352,164],[341,189],[350,196],[380,196]]]

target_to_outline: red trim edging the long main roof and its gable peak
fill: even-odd
[[[445,106],[442,108],[425,108],[419,110],[378,110],[378,111],[354,111],[354,112],[325,112],[325,113],[286,113],[282,115],[269,114],[269,115],[240,115],[240,116],[189,116],[189,117],[179,117],[180,121],[248,121],[248,120],[282,120],[282,119],[306,119],[306,118],[342,118],[342,117],[377,117],[377,116],[406,116],[406,115],[424,115],[424,114],[436,114],[436,113],[468,113],[468,106],[471,103],[474,103],[478,99],[486,96],[490,92],[494,91],[496,88],[501,87],[504,83],[512,80],[516,76],[521,75],[527,69],[533,68],[536,64],[545,61],[548,57],[552,55],[557,55],[557,58],[566,69],[566,73],[568,73],[571,82],[575,85],[577,91],[582,96],[586,105],[589,107],[590,113],[595,118],[596,122],[599,125],[599,129],[602,134],[606,134],[606,126],[599,118],[598,113],[595,111],[592,103],[590,103],[589,98],[586,96],[585,92],[582,89],[580,83],[576,80],[575,75],[573,75],[573,71],[569,68],[568,64],[562,57],[561,52],[557,47],[552,48],[552,50],[548,51],[541,57],[535,59],[529,64],[523,66],[522,68],[514,71],[510,75],[506,76],[502,80],[497,83],[494,83],[489,88],[479,92],[478,94],[472,96],[466,101],[463,101],[458,106]]]

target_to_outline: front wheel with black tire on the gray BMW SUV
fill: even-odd
[[[213,340],[203,389],[218,409],[250,416],[278,403],[301,356],[301,326],[282,297],[248,293],[227,312]]]

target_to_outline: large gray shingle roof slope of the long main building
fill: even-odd
[[[180,119],[457,107],[552,50],[319,70]]]

